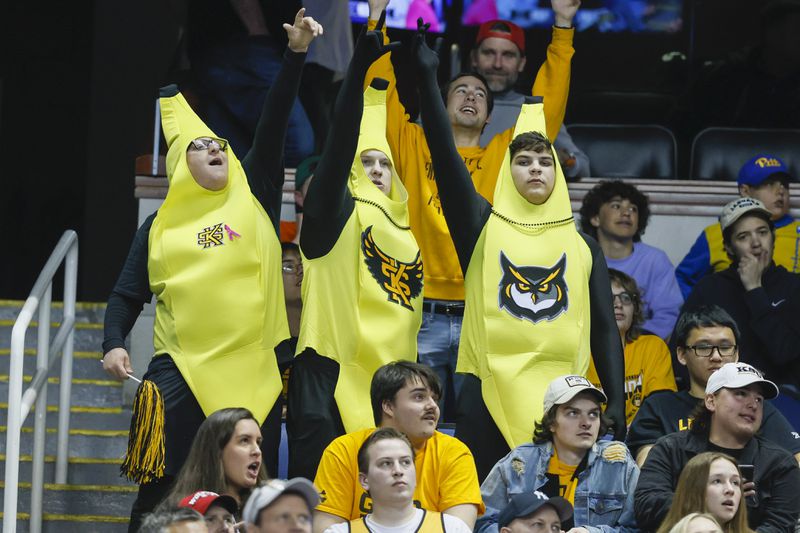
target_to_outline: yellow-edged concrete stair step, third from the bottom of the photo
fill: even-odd
[[[30,455],[23,455],[19,463],[19,479],[30,481],[33,463]],[[0,455],[0,479],[5,478],[5,456]],[[44,458],[44,479],[53,481],[55,479],[56,458],[47,455]],[[122,464],[121,458],[97,459],[87,457],[70,457],[67,463],[67,481],[76,485],[119,485],[136,487],[135,483],[128,481],[119,475],[119,467]]]

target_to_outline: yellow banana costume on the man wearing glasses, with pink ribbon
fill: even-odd
[[[172,357],[206,416],[245,407],[261,423],[281,391],[274,347],[289,337],[280,243],[232,148],[225,188],[204,189],[186,150],[214,133],[182,95],[160,104],[169,191],[148,242],[155,355]]]

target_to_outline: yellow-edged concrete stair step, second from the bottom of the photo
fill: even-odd
[[[0,483],[0,486],[3,484]],[[3,487],[5,489],[5,487]],[[51,515],[69,515],[80,510],[82,515],[114,516],[126,520],[138,488],[116,485],[56,485],[45,483],[42,510]],[[30,509],[31,484],[19,484],[18,509]]]

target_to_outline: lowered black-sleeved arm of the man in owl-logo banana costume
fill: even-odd
[[[589,301],[591,303],[591,335],[589,343],[592,359],[608,397],[606,415],[614,421],[614,439],[625,440],[625,359],[619,330],[614,321],[611,284],[603,250],[597,241],[581,234],[592,252],[592,272],[589,276]]]

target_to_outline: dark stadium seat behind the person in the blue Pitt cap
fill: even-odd
[[[780,157],[800,175],[800,130],[706,128],[692,142],[690,177],[736,181],[739,168],[759,153]]]

